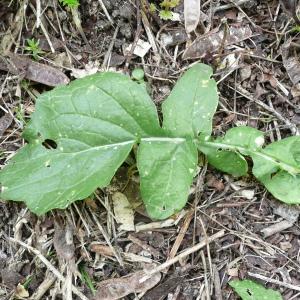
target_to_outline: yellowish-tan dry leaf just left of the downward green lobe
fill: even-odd
[[[119,230],[133,231],[134,230],[134,213],[127,197],[116,192],[112,195],[114,205],[114,214],[119,226]]]

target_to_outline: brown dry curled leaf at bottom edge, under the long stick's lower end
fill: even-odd
[[[156,273],[149,279],[140,282],[145,275],[144,271],[138,271],[121,278],[102,281],[93,300],[117,300],[132,293],[146,292],[158,284],[161,279],[161,274]]]

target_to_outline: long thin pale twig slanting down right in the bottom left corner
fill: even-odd
[[[14,238],[9,238],[9,240],[11,242],[17,243],[20,246],[22,246],[23,248],[27,249],[28,251],[31,251],[33,254],[35,254],[44,264],[45,266],[63,283],[66,282],[65,277],[50,263],[50,261],[41,254],[41,252],[27,244],[25,244],[22,241],[19,241],[17,239]],[[84,294],[82,294],[77,287],[75,287],[74,285],[72,285],[72,292],[77,295],[80,299],[82,300],[89,300]]]

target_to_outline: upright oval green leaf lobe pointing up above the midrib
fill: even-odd
[[[176,83],[162,105],[163,128],[174,137],[210,135],[212,118],[218,105],[212,68],[204,64],[191,67]]]

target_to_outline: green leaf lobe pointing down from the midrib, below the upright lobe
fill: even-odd
[[[149,215],[165,219],[185,205],[197,166],[197,148],[183,138],[142,140],[137,164]]]

